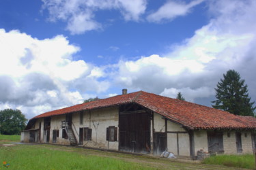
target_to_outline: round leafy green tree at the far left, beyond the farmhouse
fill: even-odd
[[[0,111],[0,133],[3,135],[20,135],[26,126],[27,119],[18,109]]]

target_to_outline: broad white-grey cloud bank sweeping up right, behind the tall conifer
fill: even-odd
[[[172,45],[161,56],[120,61],[115,82],[132,90],[168,97],[175,97],[181,91],[188,101],[202,98],[210,105],[223,73],[236,69],[246,80],[255,101],[256,2],[210,1],[208,7],[212,19],[195,31],[193,37]]]

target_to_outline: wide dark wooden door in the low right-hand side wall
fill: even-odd
[[[224,152],[222,132],[208,132],[208,152],[210,154]]]

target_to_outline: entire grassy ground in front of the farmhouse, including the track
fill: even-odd
[[[220,163],[218,156],[211,157],[202,163],[193,160],[158,158],[147,155],[122,154],[89,150],[70,146],[51,144],[15,144],[19,136],[0,135],[0,169],[3,163],[9,164],[8,169],[233,169],[236,163]],[[6,145],[12,143],[12,146]],[[252,168],[252,156],[242,159],[228,156],[242,163],[244,168]],[[215,160],[214,160],[215,159]],[[206,163],[206,164],[205,164]],[[207,165],[207,164],[219,165]],[[226,165],[226,166],[223,166]],[[245,166],[246,165],[246,166]],[[248,166],[247,166],[248,165]]]

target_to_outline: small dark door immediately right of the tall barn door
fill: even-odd
[[[167,149],[167,133],[154,133],[154,154],[162,154]]]

